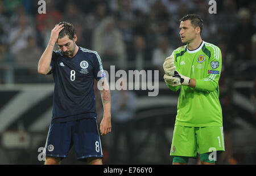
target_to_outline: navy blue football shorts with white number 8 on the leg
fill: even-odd
[[[77,160],[103,157],[96,119],[51,123],[46,140],[46,156],[67,157],[74,145]]]

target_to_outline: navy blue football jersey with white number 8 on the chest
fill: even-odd
[[[105,77],[98,53],[79,47],[69,58],[61,50],[53,51],[51,68],[55,82],[52,122],[96,118],[94,79]]]

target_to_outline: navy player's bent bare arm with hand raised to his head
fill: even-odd
[[[39,62],[38,62],[38,72],[39,74],[46,75],[49,71],[51,71],[51,59],[52,59],[52,51],[55,43],[59,38],[60,31],[64,28],[64,24],[56,25],[51,31],[51,37],[49,39],[48,45],[44,53],[42,54]]]

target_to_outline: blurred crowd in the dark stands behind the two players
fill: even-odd
[[[238,113],[232,108],[234,88],[250,83],[250,91],[241,92],[255,106],[256,1],[217,1],[216,14],[209,14],[208,2],[46,0],[46,14],[39,14],[38,1],[0,1],[0,84],[53,82],[52,76],[37,73],[37,64],[52,28],[62,21],[75,25],[77,45],[96,50],[105,70],[110,65],[116,70],[159,70],[163,81],[164,59],[184,45],[179,19],[199,14],[204,20],[203,40],[222,52],[220,101],[228,133]],[[251,117],[256,119],[255,114]]]

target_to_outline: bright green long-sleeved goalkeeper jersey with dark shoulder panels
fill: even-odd
[[[222,63],[220,48],[203,41],[196,50],[188,50],[185,45],[172,54],[176,70],[181,75],[196,80],[195,88],[168,85],[172,91],[180,88],[175,125],[222,126],[222,110],[218,99]]]

